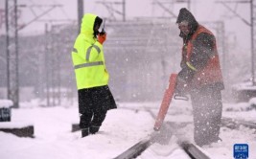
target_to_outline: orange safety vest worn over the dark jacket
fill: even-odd
[[[187,54],[185,57],[186,62],[191,63],[190,58],[192,55],[192,50],[194,48],[193,41],[197,38],[198,34],[201,33],[212,34],[203,26],[198,26],[197,31],[192,35],[192,38],[188,41]],[[198,88],[203,85],[213,84],[216,82],[223,82],[220,59],[217,51],[216,42],[214,42],[213,50],[215,52],[214,56],[210,57],[210,59],[207,61],[206,65],[202,69],[196,71],[196,74],[194,75],[194,78],[192,79],[192,82],[190,84],[191,88]]]

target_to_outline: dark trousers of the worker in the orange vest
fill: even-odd
[[[221,126],[221,90],[204,87],[191,93],[194,140],[198,146],[217,142]]]

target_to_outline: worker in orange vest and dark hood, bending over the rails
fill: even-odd
[[[191,97],[194,140],[201,147],[221,140],[221,90],[224,85],[216,38],[185,8],[180,9],[176,23],[183,47],[175,94],[188,93]]]

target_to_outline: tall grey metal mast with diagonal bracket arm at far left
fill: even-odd
[[[12,3],[12,5],[11,5]],[[6,52],[7,52],[7,94],[8,99],[13,102],[13,107],[19,107],[19,79],[18,79],[18,32],[31,23],[35,22],[38,18],[45,15],[47,12],[54,10],[61,5],[52,5],[47,11],[43,11],[39,15],[36,15],[33,11],[34,7],[42,7],[42,5],[33,5],[30,7],[35,14],[35,18],[25,25],[18,26],[18,7],[27,7],[27,5],[17,5],[17,0],[6,0]],[[49,8],[49,6],[45,6]]]

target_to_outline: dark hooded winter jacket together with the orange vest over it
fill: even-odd
[[[185,80],[190,89],[204,86],[224,89],[214,34],[199,25],[193,14],[186,9],[180,10],[176,22],[183,20],[189,22],[190,34],[179,34],[183,38],[183,48],[178,77]]]

